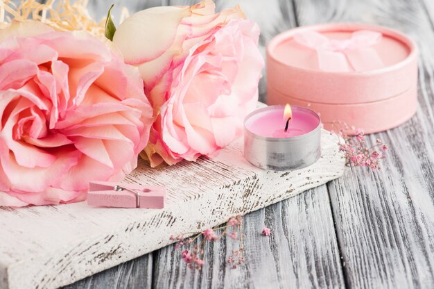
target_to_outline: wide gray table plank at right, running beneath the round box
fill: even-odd
[[[433,1],[425,1],[433,14]],[[370,135],[390,145],[383,170],[348,170],[329,183],[346,283],[354,288],[434,288],[434,34],[423,1],[295,1],[300,25],[365,22],[419,44],[419,108],[410,122]]]

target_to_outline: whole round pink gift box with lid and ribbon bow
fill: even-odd
[[[319,24],[281,33],[267,47],[267,77],[268,104],[310,106],[326,129],[344,122],[376,133],[417,108],[417,46],[381,26]]]

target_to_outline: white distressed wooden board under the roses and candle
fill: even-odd
[[[92,208],[85,203],[0,208],[0,287],[56,288],[340,176],[336,136],[322,133],[322,158],[302,170],[272,172],[243,158],[243,141],[217,158],[154,170],[144,162],[125,183],[166,185],[164,210]]]

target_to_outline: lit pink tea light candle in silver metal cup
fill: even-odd
[[[300,106],[268,106],[244,121],[244,156],[265,170],[296,170],[321,156],[320,116]]]

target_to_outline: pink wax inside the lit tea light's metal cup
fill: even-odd
[[[291,106],[293,117],[288,123],[288,131],[284,131],[284,106],[273,106],[272,109],[259,111],[245,121],[245,127],[255,135],[266,138],[293,138],[304,135],[316,129],[320,124],[320,117],[300,106]]]

